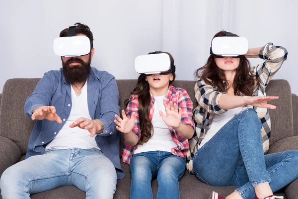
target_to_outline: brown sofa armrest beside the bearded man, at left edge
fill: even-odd
[[[10,139],[0,136],[0,176],[21,158],[21,150]]]

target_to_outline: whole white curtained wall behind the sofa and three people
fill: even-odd
[[[134,59],[150,51],[170,52],[177,80],[209,56],[211,39],[224,29],[247,37],[249,47],[267,42],[289,51],[274,79],[298,94],[298,1],[296,0],[9,0],[0,6],[0,93],[7,79],[41,78],[61,68],[52,44],[62,29],[86,23],[94,36],[92,66],[116,79],[136,79]],[[261,59],[251,59],[252,65]]]

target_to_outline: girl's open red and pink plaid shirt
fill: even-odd
[[[149,112],[149,119],[152,120],[152,116],[154,113],[154,97],[151,96],[151,104],[150,104],[150,112]],[[126,108],[126,114],[127,117],[130,118],[131,114],[133,112],[136,112],[136,121],[135,126],[133,127],[133,132],[139,137],[141,137],[141,128],[140,128],[140,120],[139,120],[139,100],[138,96],[132,95],[131,100],[129,101],[127,108]],[[191,101],[190,97],[188,96],[187,92],[184,89],[175,88],[172,86],[169,86],[169,89],[163,99],[167,104],[169,104],[170,101],[173,103],[178,104],[178,106],[181,108],[181,121],[183,124],[191,125],[193,129],[195,129],[195,123],[192,120],[192,109],[193,109],[193,102]],[[169,126],[169,130],[171,132],[171,136],[174,140],[174,142],[177,144],[177,147],[172,148],[171,152],[174,155],[186,158],[187,150],[188,150],[188,140],[182,137],[179,132],[175,129]],[[124,163],[129,164],[130,160],[134,154],[134,150],[137,148],[137,145],[131,146],[127,142],[124,142],[123,146],[123,154],[122,154],[122,161]]]

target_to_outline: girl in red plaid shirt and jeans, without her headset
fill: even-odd
[[[166,53],[166,52],[163,52]],[[130,164],[131,199],[152,199],[151,180],[157,178],[157,199],[179,199],[178,180],[185,171],[188,139],[194,134],[193,103],[184,89],[170,86],[171,69],[162,74],[141,74],[123,119],[115,115],[124,133],[122,160]]]

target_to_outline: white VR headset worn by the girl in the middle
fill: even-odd
[[[155,51],[148,55],[138,56],[135,59],[135,69],[137,73],[149,76],[152,74],[167,75],[175,72],[176,67],[168,54]]]

